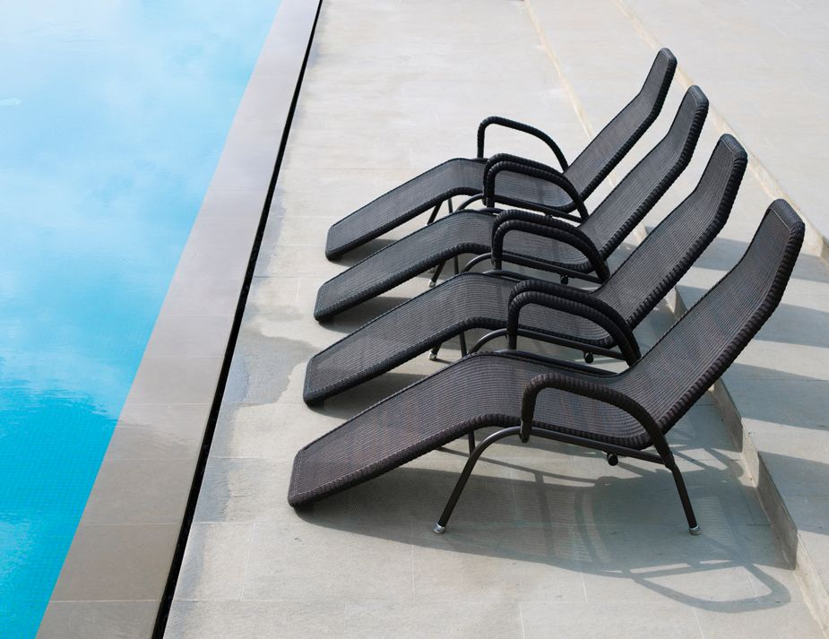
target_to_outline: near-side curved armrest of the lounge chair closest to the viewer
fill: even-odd
[[[566,375],[564,373],[545,373],[535,376],[524,389],[521,405],[521,439],[526,442],[530,438],[532,420],[535,414],[535,403],[539,393],[551,388],[574,395],[588,397],[597,402],[604,402],[624,410],[628,415],[638,421],[651,437],[653,447],[660,453],[663,460],[671,460],[668,442],[656,421],[651,414],[645,410],[639,402],[625,393],[619,393],[616,389],[607,384],[597,384],[583,376]]]

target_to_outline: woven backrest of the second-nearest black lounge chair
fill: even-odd
[[[702,255],[729,219],[743,174],[746,150],[723,135],[694,191],[660,222],[610,279],[595,291],[633,328]]]

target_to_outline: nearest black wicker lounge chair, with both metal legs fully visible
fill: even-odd
[[[475,462],[507,436],[583,445],[666,466],[692,533],[699,532],[665,438],[737,358],[780,303],[803,241],[802,220],[777,200],[747,252],[634,366],[617,375],[568,371],[517,351],[462,358],[302,448],[295,507],[372,479],[482,427],[500,430],[471,453],[435,531],[445,531]],[[646,449],[653,448],[653,451]]]

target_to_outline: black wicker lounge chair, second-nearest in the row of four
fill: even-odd
[[[598,289],[584,291],[514,276],[461,273],[380,315],[308,362],[303,399],[313,404],[400,366],[470,329],[513,333],[592,354],[640,357],[633,329],[687,272],[728,220],[746,151],[723,135],[694,192],[662,220]],[[534,213],[527,213],[533,216]],[[543,306],[534,299],[544,300]],[[521,314],[521,322],[518,317]],[[617,347],[618,350],[610,350]],[[511,344],[510,348],[516,348]],[[462,341],[465,351],[465,341]],[[465,355],[466,353],[463,352]]]

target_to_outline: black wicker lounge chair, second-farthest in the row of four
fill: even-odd
[[[592,215],[587,216],[579,200],[586,218],[580,226],[537,213],[529,214],[532,223],[528,223],[524,220],[527,212],[522,212],[520,219],[513,213],[495,216],[479,211],[454,212],[326,281],[317,292],[315,318],[327,320],[458,255],[479,255],[472,264],[482,260],[488,257],[494,235],[508,230],[516,232],[510,234],[505,246],[503,259],[506,261],[587,281],[607,280],[609,272],[604,260],[687,167],[707,113],[708,99],[703,91],[699,87],[688,89],[668,134],[619,182]],[[558,179],[540,168],[512,161],[498,162],[488,175],[489,193],[501,169]],[[578,199],[578,194],[573,195]]]

